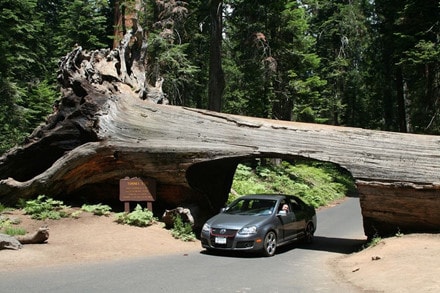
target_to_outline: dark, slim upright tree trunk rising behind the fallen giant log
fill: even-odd
[[[225,77],[222,69],[222,11],[221,0],[211,1],[211,42],[209,56],[209,87],[208,87],[208,109],[221,112],[222,96],[225,89]]]

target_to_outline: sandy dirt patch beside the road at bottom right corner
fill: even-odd
[[[338,276],[367,292],[440,292],[440,234],[410,234],[332,261]]]

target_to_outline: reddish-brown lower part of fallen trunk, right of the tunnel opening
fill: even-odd
[[[357,187],[369,237],[440,232],[440,184],[357,181]]]

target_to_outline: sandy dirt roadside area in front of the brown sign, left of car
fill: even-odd
[[[9,216],[19,218],[18,226],[30,233],[49,227],[49,239],[45,244],[26,244],[20,250],[0,250],[0,272],[201,250],[198,241],[175,239],[161,223],[134,227],[116,223],[114,215],[94,216],[87,212],[78,219],[46,221],[32,220],[19,211]]]

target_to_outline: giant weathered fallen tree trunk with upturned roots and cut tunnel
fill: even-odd
[[[438,136],[158,105],[163,95],[148,85],[133,53],[141,46],[78,47],[62,60],[57,110],[0,159],[0,202],[38,194],[118,200],[120,179],[148,177],[157,184],[157,212],[191,207],[197,227],[225,203],[239,162],[306,157],[351,172],[368,236],[438,231]]]

